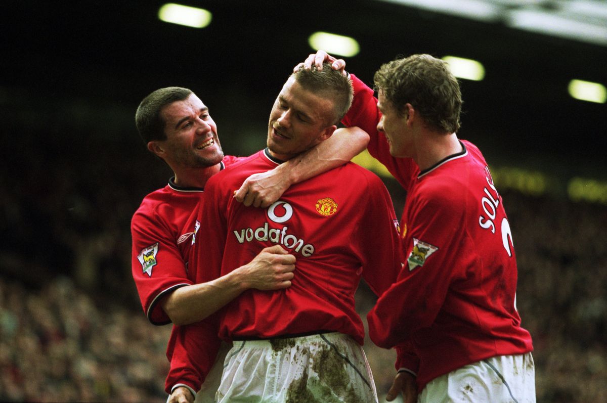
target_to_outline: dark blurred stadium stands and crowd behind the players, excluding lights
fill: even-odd
[[[607,84],[607,46],[379,1],[190,0],[213,13],[200,30],[159,21],[161,4],[2,4],[0,401],[166,399],[169,328],[138,305],[129,222],[170,171],[138,138],[135,109],[154,89],[189,87],[223,149],[248,155],[316,31],[359,41],[347,69],[367,83],[398,55],[484,64],[483,81],[461,81],[459,137],[500,173],[538,402],[607,401],[607,106],[566,92],[572,78]],[[587,200],[568,196],[574,178]],[[405,195],[384,181],[400,214]],[[363,285],[358,297],[365,314],[373,296]],[[365,349],[384,396],[393,354]]]

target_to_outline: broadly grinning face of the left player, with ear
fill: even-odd
[[[223,159],[217,126],[208,107],[194,93],[183,101],[163,107],[160,115],[166,140],[151,141],[148,147],[174,171],[207,168]]]

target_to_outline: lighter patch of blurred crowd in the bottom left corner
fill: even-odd
[[[95,302],[67,277],[0,280],[0,401],[162,402],[169,327]]]

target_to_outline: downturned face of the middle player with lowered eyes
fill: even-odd
[[[336,129],[333,101],[305,90],[291,76],[270,112],[268,148],[286,161],[331,137]]]

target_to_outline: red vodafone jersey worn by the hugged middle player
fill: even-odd
[[[354,308],[354,293],[362,278],[376,294],[396,280],[398,222],[392,200],[382,181],[371,172],[347,163],[291,186],[270,208],[246,207],[232,197],[251,174],[275,168],[267,151],[215,175],[205,187],[198,220],[214,231],[196,237],[191,268],[197,282],[227,274],[253,260],[266,246],[282,245],[296,257],[295,277],[286,290],[248,290],[222,311],[222,339],[338,331],[360,344],[364,340],[361,317]],[[237,186],[238,185],[238,186]],[[194,264],[198,259],[197,264]],[[180,327],[191,345],[195,324]],[[182,349],[185,351],[186,349]],[[197,388],[200,348],[190,348],[192,365],[171,368],[167,385],[185,383]],[[203,357],[203,359],[205,359]]]

